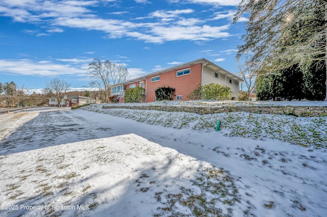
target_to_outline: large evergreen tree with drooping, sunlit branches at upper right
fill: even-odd
[[[307,73],[313,64],[318,64],[320,69],[314,71],[318,72],[314,77],[319,77],[324,65],[327,86],[326,11],[325,0],[242,0],[234,22],[244,13],[250,15],[237,57],[253,53],[248,63],[255,63],[256,70],[265,73],[293,65]],[[324,95],[327,100],[326,88]]]

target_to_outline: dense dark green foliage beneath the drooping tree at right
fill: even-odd
[[[323,100],[325,68],[313,65],[302,72],[297,65],[274,74],[259,75],[256,80],[258,100]]]

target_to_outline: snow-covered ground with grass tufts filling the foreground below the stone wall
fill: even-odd
[[[24,112],[0,116],[1,216],[327,211],[326,117]]]

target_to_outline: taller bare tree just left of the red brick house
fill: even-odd
[[[128,79],[128,70],[123,64],[115,64],[109,60],[101,61],[95,58],[88,64],[88,75],[91,78],[90,86],[98,88],[103,102],[107,103],[110,96],[110,86],[125,82]]]

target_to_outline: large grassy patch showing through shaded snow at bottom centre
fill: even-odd
[[[165,207],[160,209],[166,214],[179,215],[176,212],[176,205],[181,204],[188,207],[194,216],[223,216],[224,213],[219,207],[226,206],[229,215],[232,214],[231,207],[240,202],[240,196],[233,179],[227,172],[214,166],[199,171],[199,177],[194,180],[194,186],[200,188],[200,192],[195,192],[194,188],[181,187],[180,194],[155,193],[158,202],[165,197],[163,203]],[[160,213],[163,214],[164,213]]]

